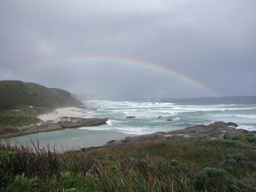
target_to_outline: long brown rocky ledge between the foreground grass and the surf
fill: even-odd
[[[106,145],[98,148],[106,148],[111,146],[122,146],[132,143],[148,142],[148,141],[169,141],[169,140],[195,140],[208,139],[215,140],[223,138],[226,135],[244,136],[246,134],[256,134],[256,131],[248,131],[244,129],[236,129],[238,125],[233,122],[215,122],[209,125],[195,125],[186,127],[185,129],[173,130],[169,132],[156,132],[153,134],[140,135],[136,137],[126,137],[122,140],[112,140]]]

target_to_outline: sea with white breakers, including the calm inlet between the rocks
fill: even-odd
[[[10,141],[24,145],[38,140],[42,146],[50,143],[50,146],[55,145],[62,150],[62,147],[101,146],[127,135],[170,131],[215,121],[235,122],[238,128],[256,130],[256,97],[105,100],[86,101],[84,105],[87,107],[83,109],[86,111],[85,117],[108,117],[108,125],[23,135]]]

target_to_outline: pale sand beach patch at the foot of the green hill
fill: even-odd
[[[59,108],[55,109],[53,113],[43,114],[37,116],[39,119],[43,121],[55,120],[59,117],[85,117],[86,113],[83,113],[81,109],[75,107],[67,107],[67,108]]]

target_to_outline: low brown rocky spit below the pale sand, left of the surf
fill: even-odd
[[[77,128],[82,126],[106,125],[108,118],[80,118],[62,117],[59,121],[45,121],[37,125],[23,127],[0,127],[0,138],[17,137],[25,134],[32,134],[45,131],[55,131],[67,128]]]

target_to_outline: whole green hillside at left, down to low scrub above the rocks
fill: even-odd
[[[42,122],[36,117],[40,114],[79,104],[65,90],[21,81],[0,81],[0,127],[37,124]]]

